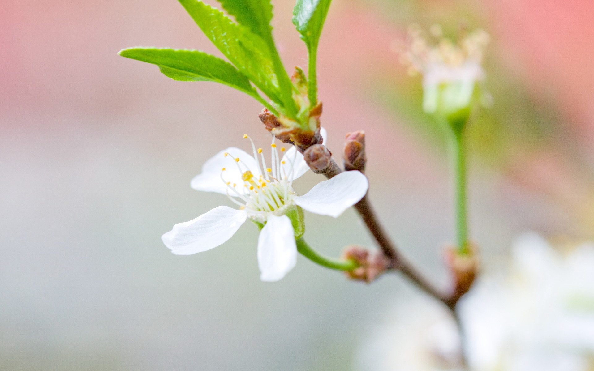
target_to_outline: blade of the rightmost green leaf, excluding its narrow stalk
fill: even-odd
[[[293,24],[309,47],[317,47],[331,0],[297,0]]]

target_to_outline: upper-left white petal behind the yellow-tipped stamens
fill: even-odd
[[[229,153],[229,155],[225,156],[225,153]],[[241,161],[236,162],[235,158],[239,158]],[[229,195],[233,196],[234,192],[225,184],[231,182],[230,186],[235,183],[235,189],[239,194],[246,194],[248,191],[244,187],[241,175],[247,170],[250,170],[255,176],[260,175],[260,169],[258,169],[254,157],[239,148],[229,147],[206,161],[202,172],[192,179],[190,186],[196,191],[217,192],[223,195],[229,192]],[[221,175],[225,179],[224,181],[221,179]]]

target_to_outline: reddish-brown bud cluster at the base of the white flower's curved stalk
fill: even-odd
[[[381,251],[369,253],[364,247],[357,245],[347,246],[343,257],[355,261],[359,265],[352,271],[345,272],[346,276],[352,280],[365,281],[366,283],[374,281],[390,266],[390,262]]]

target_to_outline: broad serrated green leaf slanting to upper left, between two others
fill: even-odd
[[[208,39],[273,102],[283,106],[267,44],[247,27],[199,0],[179,0]]]

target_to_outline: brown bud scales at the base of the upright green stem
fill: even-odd
[[[476,245],[469,243],[470,252],[460,255],[454,246],[445,250],[445,263],[454,279],[453,297],[457,300],[470,290],[479,269]]]

